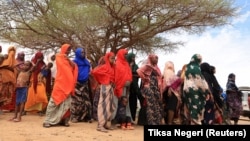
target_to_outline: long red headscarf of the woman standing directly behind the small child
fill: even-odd
[[[132,71],[126,60],[125,55],[128,54],[126,49],[120,49],[117,52],[116,68],[115,68],[115,95],[119,98],[122,95],[123,87],[126,81],[132,82]]]

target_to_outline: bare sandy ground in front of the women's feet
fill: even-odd
[[[96,130],[97,122],[70,123],[70,127],[44,128],[44,116],[28,113],[21,122],[9,121],[14,113],[0,114],[0,141],[143,141],[143,126],[134,130]]]

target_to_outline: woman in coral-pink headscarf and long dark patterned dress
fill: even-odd
[[[147,125],[162,124],[162,103],[161,101],[161,85],[162,75],[157,66],[158,56],[151,54],[148,56],[147,62],[137,69],[137,73],[141,78],[141,92],[144,96],[144,104],[146,108]]]

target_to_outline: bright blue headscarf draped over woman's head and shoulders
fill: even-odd
[[[78,78],[77,81],[80,83],[84,83],[89,79],[89,72],[90,72],[90,63],[86,59],[85,54],[82,55],[82,50],[84,48],[78,47],[75,50],[75,59],[74,62],[78,66]]]

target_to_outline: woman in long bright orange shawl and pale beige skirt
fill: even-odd
[[[75,94],[78,76],[77,65],[68,58],[70,51],[70,45],[63,44],[61,52],[56,55],[57,73],[43,127],[57,124],[69,126],[71,95]]]

